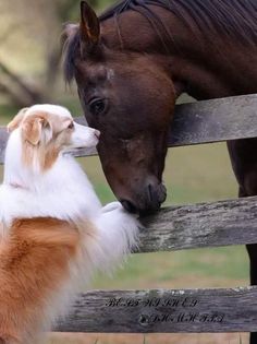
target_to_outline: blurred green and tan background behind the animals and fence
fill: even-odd
[[[112,0],[90,0],[101,12]],[[0,0],[0,124],[17,109],[35,103],[66,106],[82,115],[75,86],[65,85],[61,71],[60,36],[65,22],[77,22],[77,0]],[[180,102],[192,102],[183,95]],[[81,158],[103,203],[114,200],[98,157]],[[2,174],[2,168],[0,170]],[[237,188],[225,144],[169,151],[166,204],[235,198]],[[248,284],[244,247],[134,254],[113,277],[96,276],[93,288],[198,288]],[[245,343],[243,334],[50,334],[48,343]]]

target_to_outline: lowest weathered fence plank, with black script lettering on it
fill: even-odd
[[[248,332],[257,327],[257,287],[94,290],[81,295],[61,332]]]

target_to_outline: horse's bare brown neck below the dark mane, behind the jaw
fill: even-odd
[[[228,39],[228,38],[227,38]],[[196,99],[255,93],[257,50],[220,37],[182,39],[182,54],[171,55],[172,80]]]

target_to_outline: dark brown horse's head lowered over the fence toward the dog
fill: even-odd
[[[112,191],[127,211],[152,212],[166,200],[175,90],[158,56],[121,48],[112,27],[82,2],[79,25],[66,28],[65,75],[76,81],[88,124],[101,132],[98,153]]]

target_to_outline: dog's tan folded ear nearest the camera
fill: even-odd
[[[22,124],[23,139],[33,145],[37,145],[41,139],[45,118],[40,116],[29,116]]]

